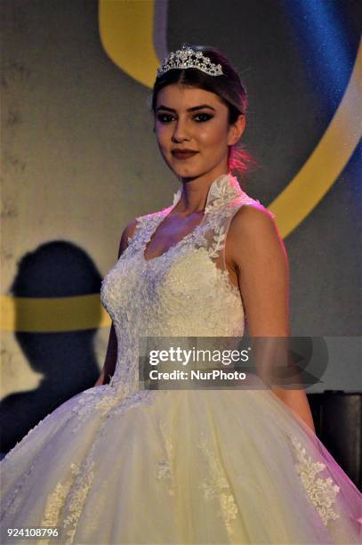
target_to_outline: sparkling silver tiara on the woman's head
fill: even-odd
[[[221,64],[214,64],[201,51],[195,51],[192,47],[183,45],[182,49],[173,51],[157,68],[157,77],[162,76],[171,69],[197,68],[209,76],[221,76],[223,74]]]

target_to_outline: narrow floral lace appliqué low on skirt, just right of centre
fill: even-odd
[[[204,434],[201,434],[197,447],[204,452],[209,466],[209,476],[203,479],[199,487],[204,490],[205,500],[212,500],[213,498],[219,500],[221,510],[218,515],[223,518],[228,533],[232,534],[233,528],[231,526],[231,521],[236,519],[238,508],[235,498],[230,492],[230,485],[225,475],[225,471],[222,468],[221,461],[217,458],[216,454],[210,450]]]

